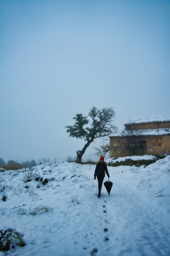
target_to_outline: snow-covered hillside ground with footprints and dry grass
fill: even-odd
[[[146,168],[108,166],[113,187],[108,195],[103,184],[101,198],[94,172],[93,164],[46,163],[26,183],[26,170],[0,172],[0,230],[15,228],[26,241],[0,256],[169,256],[170,155]],[[32,215],[39,206],[49,211]]]

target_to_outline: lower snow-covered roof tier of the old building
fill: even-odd
[[[150,136],[150,135],[169,135],[170,128],[159,128],[159,129],[144,129],[144,130],[134,130],[133,136]],[[111,137],[126,137],[132,136],[129,130],[125,130],[124,132],[117,132]]]

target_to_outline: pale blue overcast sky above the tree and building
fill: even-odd
[[[93,106],[170,115],[170,1],[1,0],[0,158],[76,156],[65,126]]]

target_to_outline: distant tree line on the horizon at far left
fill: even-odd
[[[15,162],[13,160],[9,160],[6,164],[4,159],[0,158],[0,168],[4,168],[7,171],[9,171],[9,170],[18,170],[18,169],[22,169],[22,168],[29,168],[29,167],[33,167],[33,166],[36,166],[36,165],[37,164],[34,160],[32,160],[31,162],[29,162],[29,161],[22,162],[21,164],[18,163],[18,162]]]

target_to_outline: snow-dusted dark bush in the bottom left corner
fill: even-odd
[[[26,243],[22,238],[23,236],[11,227],[0,230],[0,251],[9,251],[16,246],[24,247]]]

